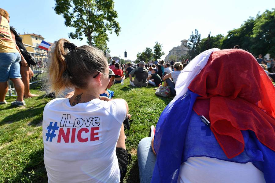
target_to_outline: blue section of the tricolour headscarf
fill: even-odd
[[[242,131],[244,152],[227,158],[210,127],[193,111],[198,96],[188,90],[184,99],[170,103],[163,110],[156,126],[154,148],[157,160],[151,182],[177,182],[181,164],[193,156],[252,162],[264,173],[266,182],[275,182],[275,152],[262,145],[253,131]]]

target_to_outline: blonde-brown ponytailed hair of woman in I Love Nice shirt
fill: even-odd
[[[107,58],[101,50],[87,45],[69,50],[64,43],[69,41],[58,40],[49,52],[47,92],[54,92],[56,96],[62,95],[66,88],[85,89],[90,76],[108,69]]]

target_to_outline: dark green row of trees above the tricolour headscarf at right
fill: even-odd
[[[275,56],[275,9],[266,10],[261,15],[258,13],[256,18],[250,17],[240,26],[240,28],[229,30],[226,36],[218,34],[208,38],[203,38],[197,49],[192,46],[196,43],[196,34],[190,35],[190,52],[196,55],[208,48],[229,49],[239,45],[241,49],[251,52],[254,56],[259,54],[270,54]],[[196,33],[196,32],[195,32]],[[194,41],[195,40],[195,41]],[[192,49],[193,48],[193,49]],[[194,51],[196,50],[196,51]],[[192,55],[192,56],[193,56]],[[192,58],[192,57],[191,57]]]

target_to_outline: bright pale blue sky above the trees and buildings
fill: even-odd
[[[55,14],[54,0],[9,1],[1,2],[0,8],[10,14],[10,25],[17,32],[41,34],[46,41],[68,38],[73,28],[64,26],[61,15]],[[201,38],[223,34],[240,25],[258,12],[275,8],[274,0],[231,0],[231,1],[186,1],[186,0],[115,0],[117,21],[121,26],[119,36],[110,34],[108,47],[111,56],[135,60],[138,52],[146,47],[153,48],[158,41],[163,46],[164,57],[169,51],[188,39],[192,31],[199,30]],[[82,41],[69,39],[77,46],[85,45]]]

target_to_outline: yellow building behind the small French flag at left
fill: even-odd
[[[34,46],[34,47],[38,47],[40,45],[40,43],[44,40],[44,38],[38,34],[19,34],[19,36],[22,38],[23,43],[25,43],[27,45]],[[25,47],[28,52],[47,55],[47,52],[44,50],[32,48],[29,46],[25,46]]]

